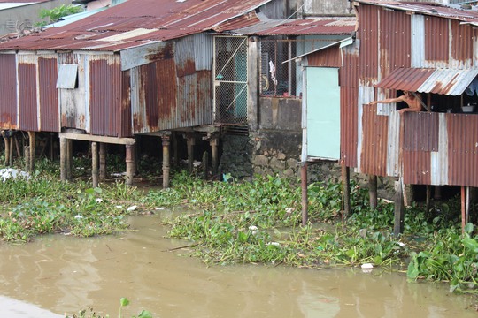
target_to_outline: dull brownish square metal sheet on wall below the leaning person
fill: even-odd
[[[405,151],[438,151],[438,115],[435,112],[405,113]]]

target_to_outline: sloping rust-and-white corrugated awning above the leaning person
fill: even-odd
[[[375,87],[441,95],[461,95],[477,75],[478,69],[397,68]]]

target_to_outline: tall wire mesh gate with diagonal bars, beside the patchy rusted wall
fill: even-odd
[[[215,121],[247,124],[247,38],[214,38]]]

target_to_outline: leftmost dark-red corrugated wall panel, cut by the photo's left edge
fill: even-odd
[[[0,54],[0,129],[17,127],[17,66],[14,54]]]

